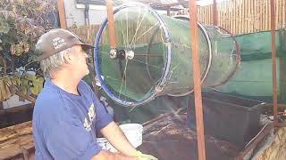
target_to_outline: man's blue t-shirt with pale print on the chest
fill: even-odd
[[[88,84],[80,81],[80,95],[47,80],[33,113],[35,159],[90,159],[101,150],[96,132],[112,122]]]

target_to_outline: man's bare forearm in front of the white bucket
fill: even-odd
[[[117,124],[111,122],[100,132],[119,152],[126,156],[136,156],[137,150],[133,148]]]

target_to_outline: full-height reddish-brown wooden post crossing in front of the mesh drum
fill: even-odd
[[[200,86],[200,69],[198,58],[198,20],[197,20],[197,0],[189,0],[189,28],[191,37],[191,54],[195,93],[197,140],[198,140],[198,160],[206,160],[204,117],[202,108],[202,94]]]

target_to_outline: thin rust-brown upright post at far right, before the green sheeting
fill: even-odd
[[[270,0],[271,11],[271,48],[272,48],[272,81],[273,81],[273,124],[278,124],[277,111],[277,74],[276,74],[276,47],[275,47],[275,8],[274,0]]]

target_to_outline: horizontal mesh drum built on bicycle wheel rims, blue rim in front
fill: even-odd
[[[115,52],[107,25],[105,20],[97,33],[94,59],[99,82],[114,101],[133,107],[159,95],[192,92],[187,18],[159,15],[145,4],[123,4],[114,10]],[[233,38],[198,23],[198,44],[201,82],[222,84],[238,63]]]

